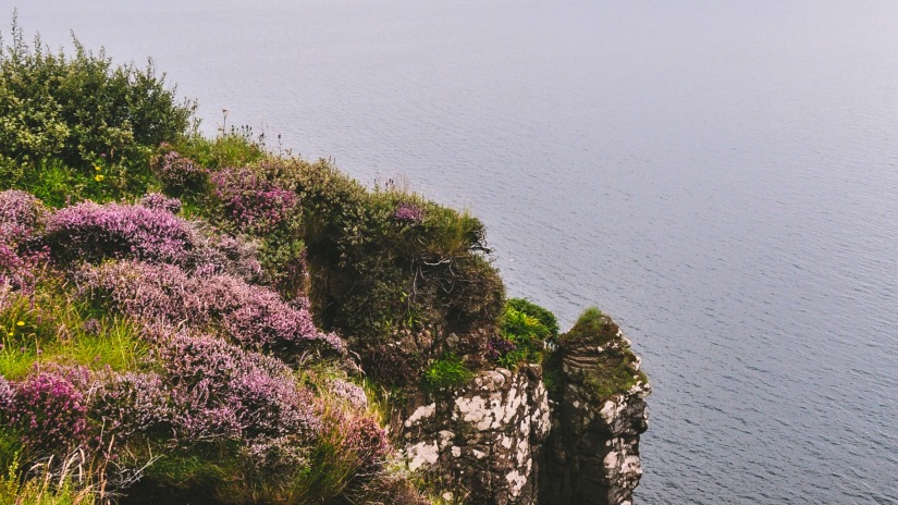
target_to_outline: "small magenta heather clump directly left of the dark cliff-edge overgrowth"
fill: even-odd
[[[239,230],[266,233],[287,219],[299,202],[292,190],[279,187],[251,169],[224,169],[212,175],[216,198]]]

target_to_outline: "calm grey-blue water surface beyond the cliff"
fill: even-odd
[[[614,315],[655,386],[638,502],[898,503],[894,0],[15,3]]]

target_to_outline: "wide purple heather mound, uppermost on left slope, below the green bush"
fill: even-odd
[[[51,215],[45,239],[62,260],[136,257],[187,264],[195,237],[188,221],[163,209],[85,202]]]

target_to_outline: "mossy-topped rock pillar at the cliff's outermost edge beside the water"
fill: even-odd
[[[648,429],[651,392],[639,373],[640,360],[619,330],[604,342],[563,340],[557,354],[561,369],[539,503],[628,505],[642,477],[639,435]],[[627,375],[632,379],[622,382]],[[606,396],[610,387],[626,385]]]

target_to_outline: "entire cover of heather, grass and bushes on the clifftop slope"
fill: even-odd
[[[384,398],[579,334],[467,212],[75,49],[0,41],[0,504],[429,503]]]

